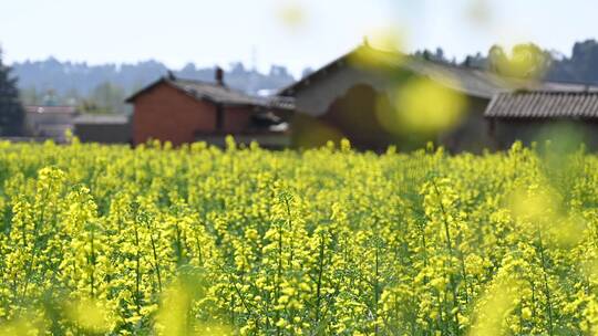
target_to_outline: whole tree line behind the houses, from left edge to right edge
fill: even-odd
[[[598,84],[598,42],[575,43],[571,55],[526,43],[506,50],[492,46],[486,54],[467,55],[461,62],[448,59],[442,49],[423,50],[414,56],[430,61],[477,67],[501,75],[560,82]],[[8,66],[0,51],[0,135],[16,136],[22,132],[22,105],[74,105],[82,113],[127,113],[127,95],[167,72],[155,61],[136,65],[95,65],[61,63],[54,59],[23,62]],[[306,70],[308,72],[309,70]],[[187,64],[175,75],[212,81],[213,69],[197,69]],[[268,74],[235,63],[226,74],[235,88],[257,94],[260,90],[276,91],[295,81],[285,66],[272,66]]]

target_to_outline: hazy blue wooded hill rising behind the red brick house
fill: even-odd
[[[89,96],[102,84],[121,87],[126,94],[147,85],[167,73],[168,67],[157,61],[136,64],[103,64],[61,62],[53,57],[45,61],[25,61],[12,64],[19,77],[19,88],[38,93],[53,91],[58,96]],[[202,81],[214,80],[214,67],[187,64],[173,70],[175,75]],[[231,64],[225,74],[226,83],[235,88],[256,94],[261,90],[277,90],[295,81],[285,66],[271,66],[269,73],[246,69],[241,63]]]

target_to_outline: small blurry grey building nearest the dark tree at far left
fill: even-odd
[[[25,136],[65,141],[66,130],[72,130],[76,108],[73,106],[24,106]]]

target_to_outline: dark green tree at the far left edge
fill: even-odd
[[[24,111],[19,101],[17,78],[11,76],[11,69],[2,63],[0,50],[0,135],[22,135],[23,119]]]

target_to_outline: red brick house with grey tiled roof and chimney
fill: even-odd
[[[175,77],[172,73],[135,93],[133,144],[150,139],[182,144],[205,140],[223,145],[226,135],[238,143],[258,141],[265,147],[286,147],[286,120],[292,114],[292,99],[262,98],[235,91],[216,70],[216,82]]]

